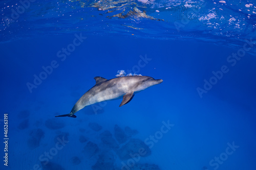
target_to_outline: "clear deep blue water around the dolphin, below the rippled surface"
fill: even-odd
[[[173,127],[153,142],[150,155],[134,161],[138,166],[152,166],[143,167],[146,170],[211,170],[217,165],[209,162],[225,156],[227,143],[234,143],[239,148],[224,157],[218,169],[255,168],[255,56],[246,53],[230,66],[226,58],[238,49],[212,43],[84,36],[88,38],[65,61],[56,53],[72,42],[74,35],[1,44],[6,56],[1,62],[1,110],[9,113],[10,138],[9,165],[2,161],[1,169],[41,167],[40,156],[54,152],[58,135],[66,135],[69,142],[42,169],[91,169],[95,164],[94,169],[121,169],[121,162],[131,158],[120,160],[116,151],[130,139],[143,143],[150,135],[159,134],[162,122],[168,121]],[[163,83],[136,94],[120,108],[121,100],[108,101],[97,114],[88,106],[76,113],[77,118],[54,117],[69,113],[95,84],[95,76],[115,78],[118,70],[132,69],[141,60],[139,56],[145,55],[152,60],[137,74],[162,79]],[[53,60],[59,66],[30,93],[26,83],[33,82],[33,75]],[[197,87],[203,87],[211,71],[223,65],[230,71],[200,98]],[[102,129],[94,131],[90,123]],[[122,144],[115,145],[115,125],[123,131],[125,127],[134,130],[130,136],[119,131],[127,136]],[[104,138],[105,131],[112,136]],[[89,142],[97,144],[98,150],[84,149]],[[101,162],[97,164],[97,160]]]

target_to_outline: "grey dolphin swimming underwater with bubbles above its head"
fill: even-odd
[[[69,114],[58,115],[55,117],[76,117],[74,115],[82,108],[110,100],[117,100],[123,98],[119,107],[129,103],[135,93],[145,90],[148,87],[160,84],[162,79],[154,79],[148,76],[125,76],[114,79],[104,79],[102,77],[95,77],[96,84],[84,93],[76,102]]]

